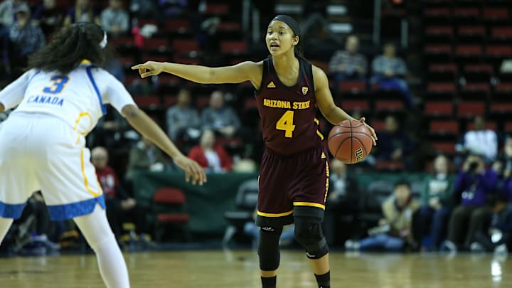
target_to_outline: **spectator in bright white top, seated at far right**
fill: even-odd
[[[498,154],[498,136],[491,129],[486,129],[484,117],[476,116],[474,119],[474,130],[469,130],[464,134],[462,143],[455,146],[457,153],[457,163],[462,164],[465,156],[469,152],[482,154],[485,161],[493,162]]]

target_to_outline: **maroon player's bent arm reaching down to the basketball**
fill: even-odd
[[[346,119],[362,122],[370,130],[373,138],[373,145],[375,146],[377,144],[377,134],[375,134],[375,130],[365,123],[365,117],[362,117],[359,120],[354,119],[351,115],[334,104],[331,90],[329,90],[329,80],[327,80],[327,75],[323,70],[316,66],[313,66],[313,80],[315,85],[316,104],[327,121],[335,125]]]

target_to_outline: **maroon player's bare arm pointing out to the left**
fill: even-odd
[[[252,85],[259,87],[263,66],[262,63],[255,63],[251,61],[218,68],[148,61],[144,64],[132,66],[132,70],[139,70],[139,74],[142,78],[166,72],[201,84],[240,83],[251,81]]]

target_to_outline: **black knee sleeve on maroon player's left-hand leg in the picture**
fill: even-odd
[[[274,271],[279,267],[279,237],[282,227],[262,227],[260,230],[260,241],[258,242],[258,256],[260,257],[260,269],[263,271]]]

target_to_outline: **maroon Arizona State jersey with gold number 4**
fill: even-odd
[[[256,91],[265,146],[277,154],[290,155],[321,146],[314,97],[311,63],[299,58],[299,78],[284,85],[274,70],[272,58],[263,61],[260,90]]]

